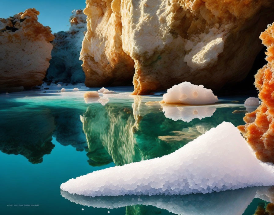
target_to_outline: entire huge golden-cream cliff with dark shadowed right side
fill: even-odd
[[[183,81],[219,89],[242,80],[274,17],[271,0],[88,0],[84,13],[87,86],[130,81],[135,68],[135,94]]]

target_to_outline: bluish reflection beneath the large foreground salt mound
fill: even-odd
[[[242,215],[247,206],[256,198],[267,197],[265,193],[273,187],[253,187],[238,190],[189,195],[154,196],[101,196],[91,198],[70,194],[61,190],[61,195],[76,204],[96,208],[120,208],[134,205],[151,205],[174,214],[185,215]],[[258,195],[260,193],[261,195]],[[265,200],[265,199],[264,199]],[[268,199],[269,201],[269,199]]]

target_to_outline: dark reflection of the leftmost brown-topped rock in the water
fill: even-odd
[[[51,141],[55,125],[50,109],[1,112],[0,150],[23,155],[33,164],[43,162],[43,156],[54,148]]]

